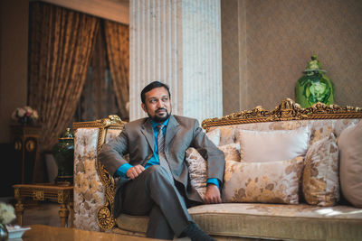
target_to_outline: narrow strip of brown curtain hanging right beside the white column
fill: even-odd
[[[120,116],[129,119],[129,26],[104,21],[107,56]]]

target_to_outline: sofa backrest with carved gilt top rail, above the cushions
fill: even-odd
[[[237,130],[293,130],[301,126],[310,127],[310,140],[322,138],[332,131],[336,137],[349,125],[357,124],[362,118],[359,107],[326,106],[318,103],[310,108],[301,108],[290,98],[268,111],[262,107],[233,113],[221,118],[205,119],[202,126],[206,132],[220,129],[220,144],[237,142]],[[319,134],[320,136],[315,136]]]

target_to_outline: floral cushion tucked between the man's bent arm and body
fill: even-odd
[[[193,147],[186,150],[186,165],[190,175],[190,184],[204,199],[207,181],[207,163]]]

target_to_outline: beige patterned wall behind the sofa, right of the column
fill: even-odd
[[[362,2],[222,1],[224,115],[283,97],[315,53],[335,84],[335,103],[362,107]]]

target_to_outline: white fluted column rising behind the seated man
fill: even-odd
[[[173,114],[222,116],[220,0],[130,1],[130,120],[146,116],[140,91],[159,80]]]

